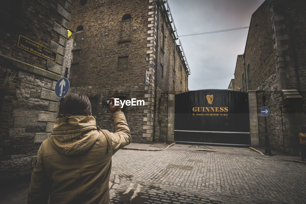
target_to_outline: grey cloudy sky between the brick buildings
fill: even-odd
[[[263,2],[168,0],[178,36],[249,26],[252,13]],[[244,53],[247,35],[248,28],[179,37],[191,72],[188,89],[227,89],[234,78],[237,55]]]

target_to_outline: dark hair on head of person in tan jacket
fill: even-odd
[[[91,115],[91,104],[89,98],[84,93],[72,93],[65,96],[60,105],[58,117],[73,115]]]

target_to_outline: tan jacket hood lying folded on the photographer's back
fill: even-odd
[[[59,153],[72,156],[86,153],[98,137],[95,118],[76,115],[58,118],[49,141]]]

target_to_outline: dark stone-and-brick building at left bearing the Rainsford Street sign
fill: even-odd
[[[0,3],[0,180],[31,174],[50,136],[71,9],[72,0]]]

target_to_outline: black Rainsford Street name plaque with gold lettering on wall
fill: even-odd
[[[17,47],[20,47],[26,51],[34,53],[35,55],[50,60],[51,62],[56,62],[57,52],[54,52],[53,50],[50,50],[47,47],[35,43],[34,41],[24,36],[19,35]]]

